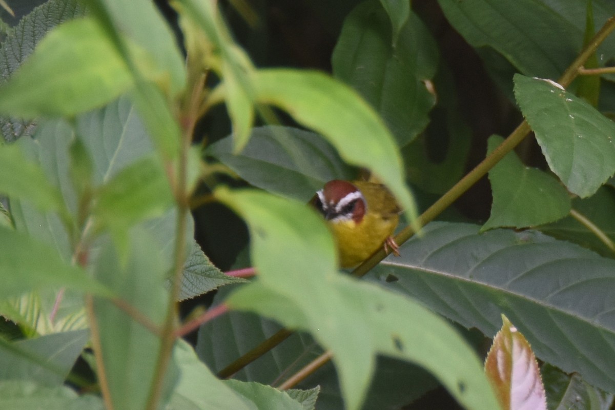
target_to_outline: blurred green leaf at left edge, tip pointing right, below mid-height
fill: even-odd
[[[112,296],[79,267],[66,264],[57,251],[19,232],[0,227],[0,300],[47,287]]]

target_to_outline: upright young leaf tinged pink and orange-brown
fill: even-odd
[[[506,316],[493,339],[485,373],[504,410],[547,410],[544,386],[528,341]]]

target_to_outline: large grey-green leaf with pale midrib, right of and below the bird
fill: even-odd
[[[368,277],[493,336],[501,313],[536,356],[615,390],[615,261],[536,231],[431,223]]]

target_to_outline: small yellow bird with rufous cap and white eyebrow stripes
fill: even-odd
[[[371,181],[333,179],[310,201],[327,221],[339,251],[339,265],[352,268],[378,248],[399,256],[392,237],[400,207],[386,186]]]

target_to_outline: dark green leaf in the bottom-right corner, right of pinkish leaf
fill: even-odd
[[[613,405],[613,394],[593,387],[576,373],[563,373],[548,363],[542,366],[541,373],[551,410],[609,410]]]

